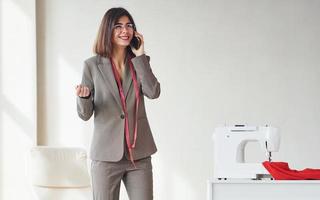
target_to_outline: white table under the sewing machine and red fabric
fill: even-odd
[[[320,200],[319,180],[208,180],[207,200]]]

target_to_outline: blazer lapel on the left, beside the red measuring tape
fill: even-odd
[[[117,86],[116,80],[113,75],[111,62],[108,58],[105,58],[102,56],[99,56],[99,58],[100,58],[100,60],[98,62],[99,71],[101,72],[102,77],[103,77],[108,89],[111,91],[116,102],[118,103],[118,105],[122,109],[121,99],[119,96],[119,90],[118,90],[118,86]]]

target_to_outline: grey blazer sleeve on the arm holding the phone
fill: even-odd
[[[160,96],[160,83],[154,76],[149,63],[150,57],[142,54],[132,58],[132,64],[137,72],[137,79],[141,84],[142,93],[150,99]]]

